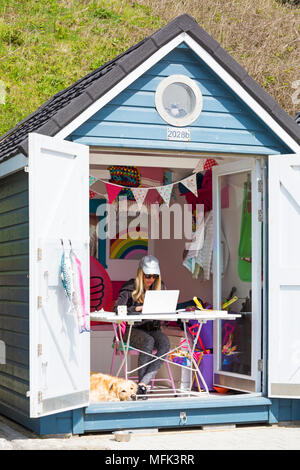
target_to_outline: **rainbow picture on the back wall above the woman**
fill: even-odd
[[[148,253],[148,233],[143,230],[133,229],[139,233],[139,238],[129,237],[129,231],[117,234],[117,238],[110,240],[110,259],[141,259]],[[124,238],[124,235],[127,237]],[[122,238],[121,238],[122,237]]]

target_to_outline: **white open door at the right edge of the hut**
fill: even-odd
[[[269,157],[270,397],[300,398],[300,154]]]

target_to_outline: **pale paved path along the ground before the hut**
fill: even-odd
[[[300,450],[300,424],[184,431],[139,431],[129,442],[112,433],[39,437],[0,416],[1,450]]]

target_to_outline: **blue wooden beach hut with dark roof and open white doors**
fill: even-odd
[[[299,156],[297,123],[188,15],[2,136],[0,412],[39,434],[299,420]],[[209,278],[182,265],[180,241],[148,249],[182,301],[195,292],[218,309],[237,289],[242,320],[216,321],[209,346],[213,384],[228,393],[90,403],[90,370],[97,360],[109,370],[112,333],[78,334],[58,275],[61,239],[71,240],[89,293],[91,214],[103,200],[89,199],[89,176],[108,181],[111,166],[130,165],[176,182],[209,159]],[[245,191],[250,256],[238,250]],[[137,260],[110,257],[109,240],[96,248],[116,287],[134,273]],[[225,357],[234,328],[238,354]]]

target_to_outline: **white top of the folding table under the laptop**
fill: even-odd
[[[101,322],[140,322],[142,320],[176,321],[176,320],[198,320],[206,322],[208,320],[235,320],[240,318],[240,314],[228,313],[226,310],[194,310],[174,313],[147,313],[136,315],[117,315],[115,312],[95,311],[90,313],[92,321]]]

